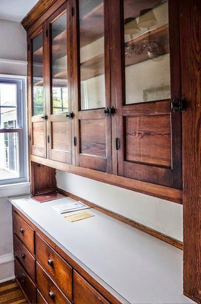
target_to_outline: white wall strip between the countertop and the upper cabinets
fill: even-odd
[[[57,186],[158,232],[183,240],[182,205],[59,170]]]

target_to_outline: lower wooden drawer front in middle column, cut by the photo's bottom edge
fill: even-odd
[[[54,282],[50,279],[50,277],[46,274],[46,272],[43,270],[41,265],[38,264],[38,262],[36,262],[36,280],[38,289],[44,295],[48,303],[70,303],[70,301],[54,284]]]

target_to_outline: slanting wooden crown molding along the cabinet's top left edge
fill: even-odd
[[[22,19],[21,23],[25,30],[40,18],[58,0],[39,0],[28,14]]]

